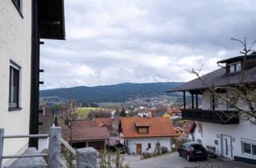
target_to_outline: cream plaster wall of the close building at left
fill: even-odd
[[[31,1],[23,0],[18,13],[11,0],[0,1],[0,128],[5,134],[29,134],[30,123],[30,58],[31,58]],[[10,59],[21,69],[22,110],[9,111]],[[28,139],[5,140],[4,154],[15,154],[27,146]]]

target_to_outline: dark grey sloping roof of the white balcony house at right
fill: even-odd
[[[244,83],[256,82],[256,67],[244,70]],[[226,74],[225,68],[214,70],[209,74],[203,75],[202,80],[206,82],[208,86],[232,86],[238,84],[241,80],[241,72]],[[174,87],[167,92],[175,91],[187,91],[187,90],[204,90],[207,86],[202,82],[200,78],[196,78],[190,82],[186,82],[181,86]]]

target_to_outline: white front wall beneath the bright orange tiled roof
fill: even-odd
[[[129,154],[136,154],[136,144],[141,143],[142,144],[142,153],[154,153],[156,143],[160,142],[160,146],[165,146],[168,148],[168,150],[171,150],[171,138],[133,138],[133,139],[127,139],[128,142],[128,151]],[[148,143],[151,143],[151,148],[147,150]]]

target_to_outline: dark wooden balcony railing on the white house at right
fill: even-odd
[[[182,118],[218,124],[239,124],[238,113],[231,110],[182,109]]]

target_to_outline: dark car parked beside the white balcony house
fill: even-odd
[[[192,159],[207,159],[206,148],[198,142],[186,142],[178,148],[179,156],[186,157],[188,161]]]

